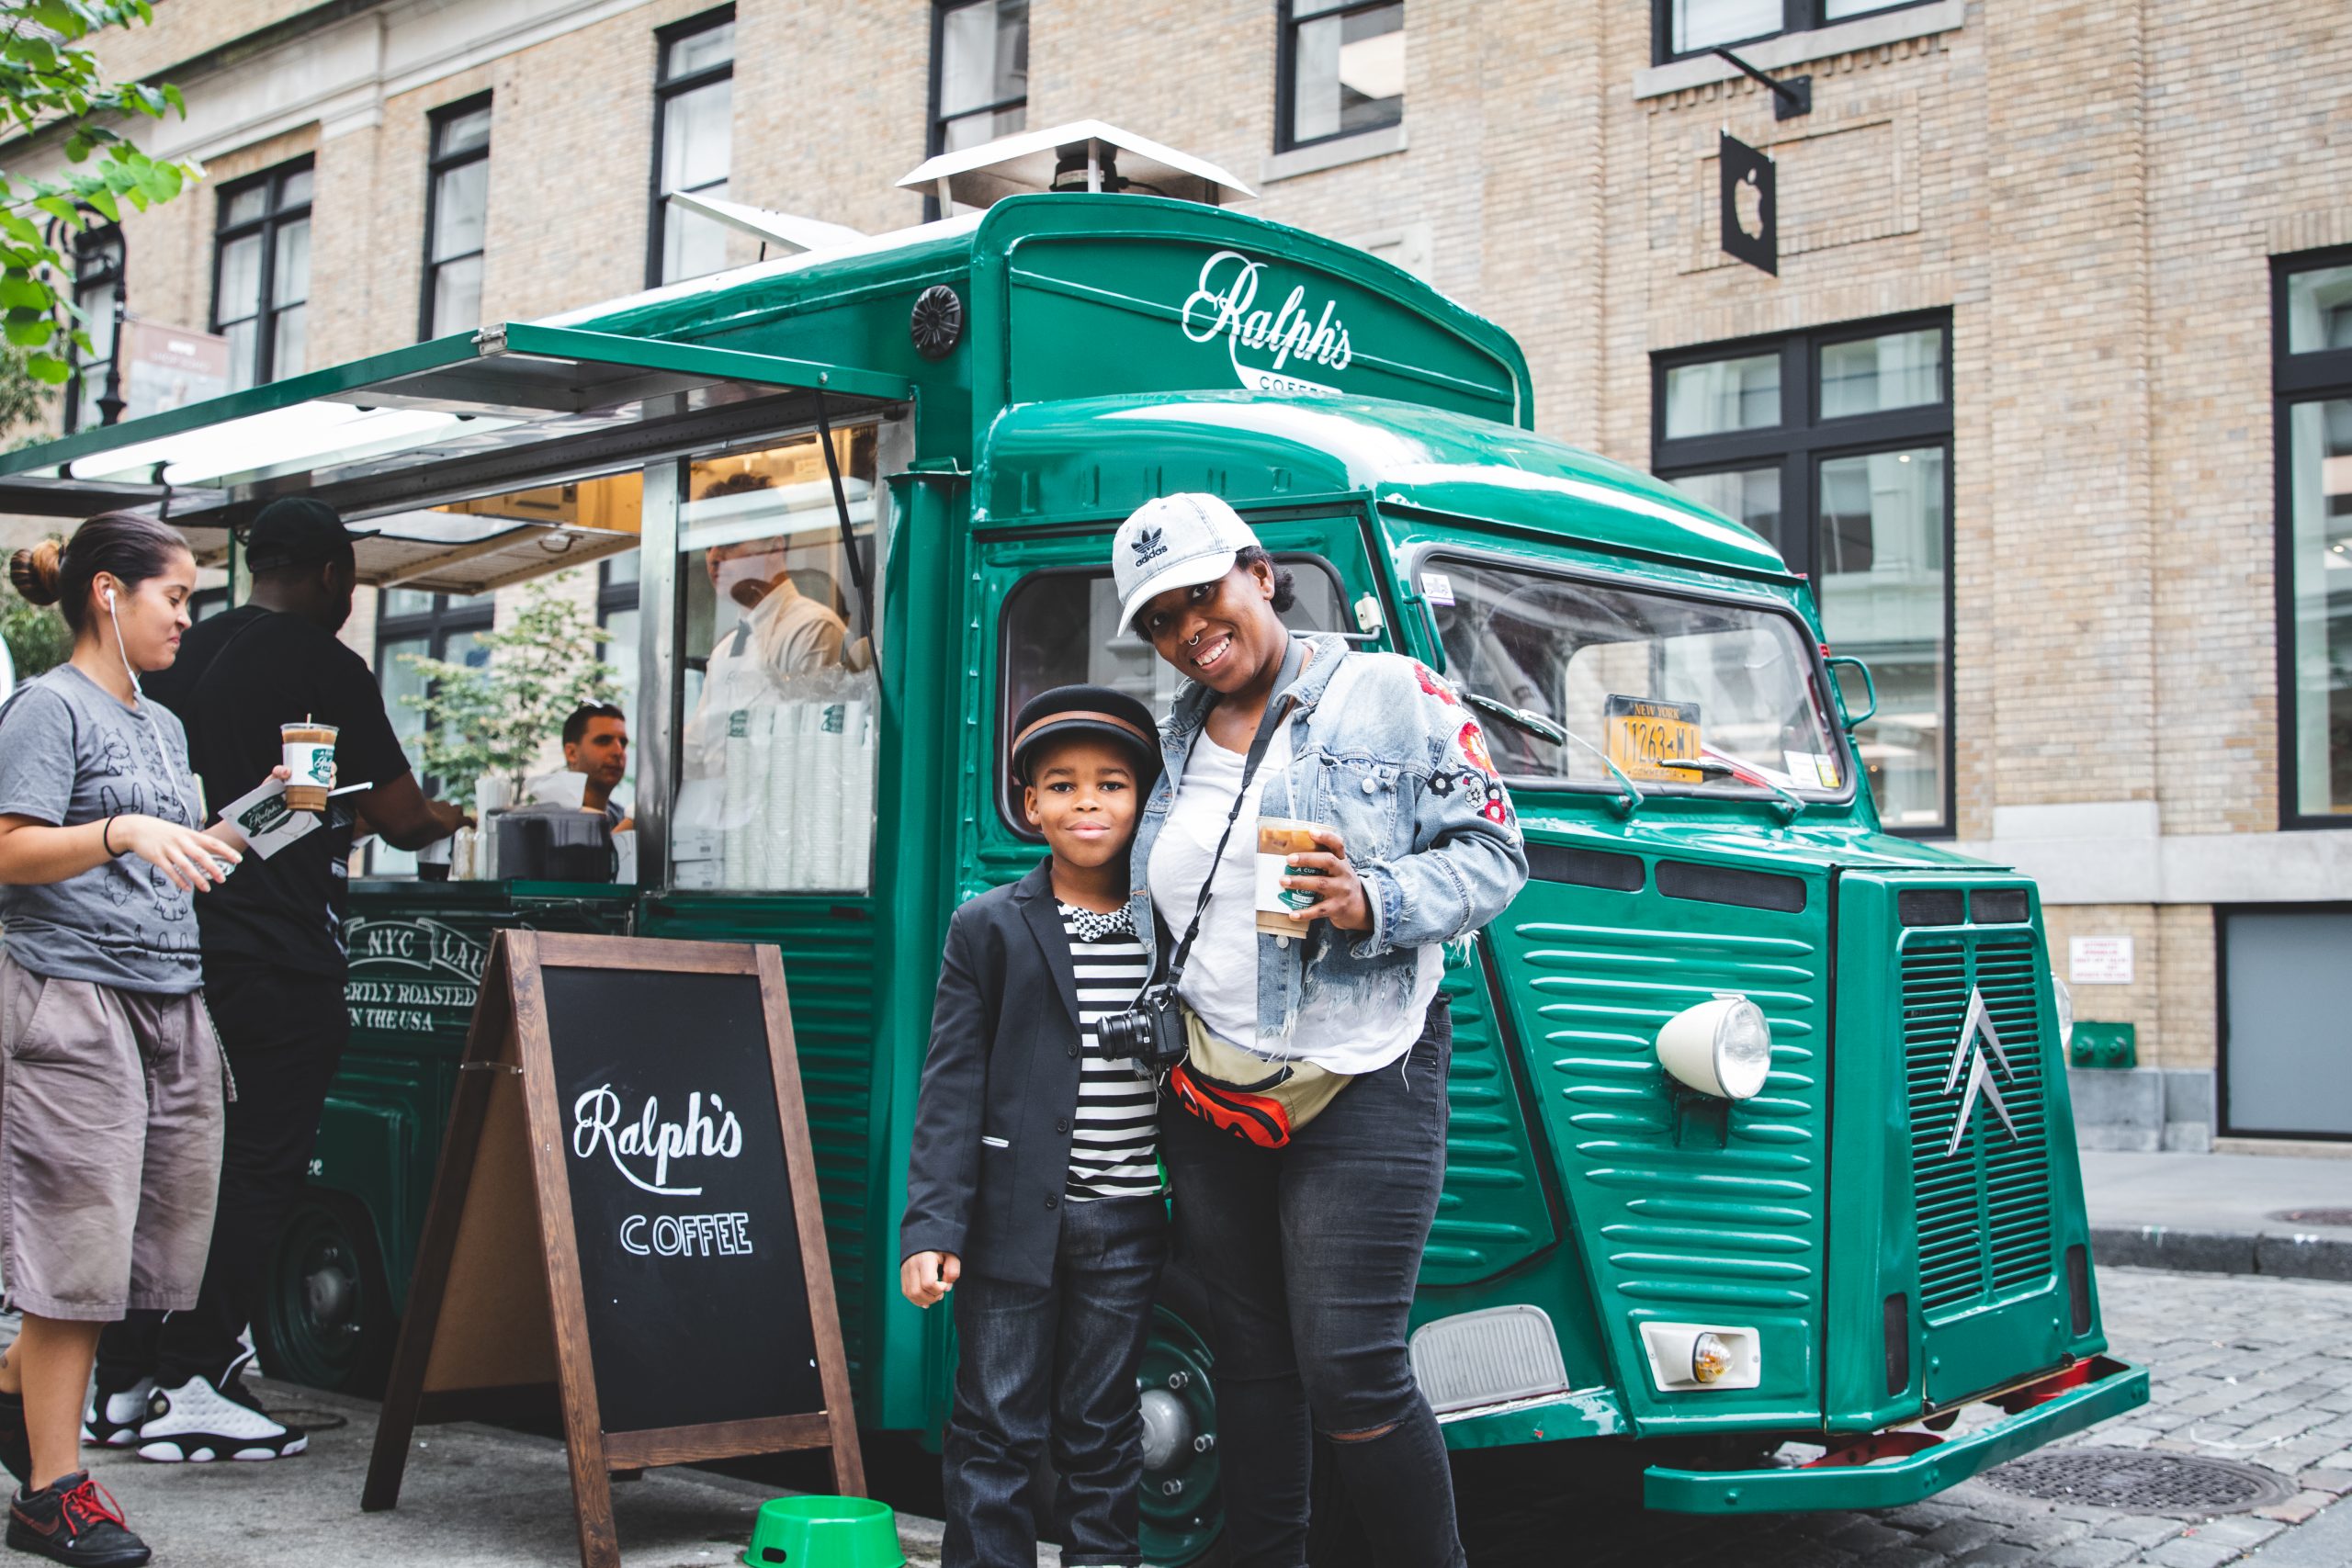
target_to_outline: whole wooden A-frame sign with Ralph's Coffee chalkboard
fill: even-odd
[[[365,1509],[468,1392],[555,1382],[583,1568],[614,1469],[828,1448],[863,1495],[774,947],[499,931]]]

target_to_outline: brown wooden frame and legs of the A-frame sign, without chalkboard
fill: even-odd
[[[823,1408],[743,1420],[607,1432],[597,1408],[595,1335],[581,1288],[569,1135],[548,1037],[543,971],[604,976],[750,976],[760,987],[769,1077],[790,1187],[807,1328]],[[630,980],[635,983],[635,980]],[[649,1048],[654,1048],[649,1044]],[[746,1150],[757,1159],[760,1150]],[[628,1251],[637,1251],[635,1246]],[[532,1267],[536,1258],[539,1267]],[[774,1302],[779,1314],[800,1302]],[[442,1333],[447,1328],[447,1333]],[[727,1347],[708,1347],[710,1375],[727,1378]],[[416,1420],[428,1401],[470,1389],[553,1382],[562,1399],[572,1505],[583,1568],[619,1568],[612,1472],[649,1465],[828,1448],[833,1486],[866,1495],[849,1366],[826,1262],[826,1225],[809,1150],[783,959],[771,945],[668,943],[609,936],[499,931],[482,973],[456,1105],[426,1211],[409,1309],[400,1326],[383,1418],[360,1507],[400,1500]],[[454,1401],[449,1401],[454,1403]]]

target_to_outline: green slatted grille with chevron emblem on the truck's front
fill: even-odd
[[[1950,1154],[1952,1124],[1969,1084],[1969,1060],[1945,1091],[1962,1048],[1969,990],[2009,1056],[2009,1072],[1983,1041],[1985,1070],[2016,1135],[1987,1095],[1969,1112]],[[1919,1211],[1919,1305],[1931,1316],[1999,1300],[2051,1272],[2049,1072],[2039,1030],[2039,976],[2032,940],[1922,940],[1903,952],[1903,1072],[1910,1095],[1912,1185]]]

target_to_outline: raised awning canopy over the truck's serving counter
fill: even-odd
[[[842,364],[508,322],[0,454],[0,510],[139,510],[219,559],[268,501],[310,494],[369,536],[362,581],[482,592],[637,536],[428,508],[910,397]]]

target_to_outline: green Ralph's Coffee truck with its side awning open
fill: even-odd
[[[978,212],[0,458],[14,510],[148,508],[207,559],[325,496],[374,529],[386,616],[637,585],[637,877],[355,882],[263,1363],[381,1375],[492,931],[774,943],[858,1418],[936,1434],[953,1321],[898,1298],[896,1220],[941,938],[1042,853],[1021,703],[1171,698],[1110,534],[1200,489],[1296,569],[1294,625],[1446,672],[1526,827],[1524,893],[1446,976],[1411,1356],[1456,1450],[1611,1446],[1656,1509],[1882,1507],[2143,1403],[2103,1354],[2034,884],[1879,830],[1867,670],[1806,581],[1534,435],[1510,336],[1221,209],[1214,169],[1098,125],[981,153],[917,172]],[[779,569],[783,609],[743,592]],[[1192,1300],[1171,1272],[1143,1373],[1157,1563],[1221,1533]]]

